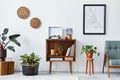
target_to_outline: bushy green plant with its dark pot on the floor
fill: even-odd
[[[35,55],[32,52],[30,55],[23,54],[20,56],[20,60],[22,61],[22,71],[24,75],[37,75],[39,69],[39,61],[40,58],[38,55]]]

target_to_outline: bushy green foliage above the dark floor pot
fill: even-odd
[[[32,52],[30,55],[24,54],[20,56],[20,60],[22,61],[21,64],[28,66],[38,65],[40,59],[41,58],[38,55],[35,55],[34,52]]]

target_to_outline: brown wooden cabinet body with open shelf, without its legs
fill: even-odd
[[[63,40],[63,39],[46,39],[46,61],[50,61],[50,58],[65,58],[67,49],[72,46],[72,44],[75,45],[74,47],[74,56],[72,61],[76,61],[76,40]],[[55,53],[58,53],[58,46],[62,45],[63,47],[63,55],[51,55],[51,49],[55,50]],[[69,56],[70,57],[70,56]],[[63,62],[65,59],[63,60]],[[70,60],[71,61],[71,60]],[[61,61],[60,61],[61,62]]]

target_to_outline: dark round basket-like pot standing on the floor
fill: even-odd
[[[23,74],[26,76],[37,75],[39,64],[34,66],[22,65]]]

